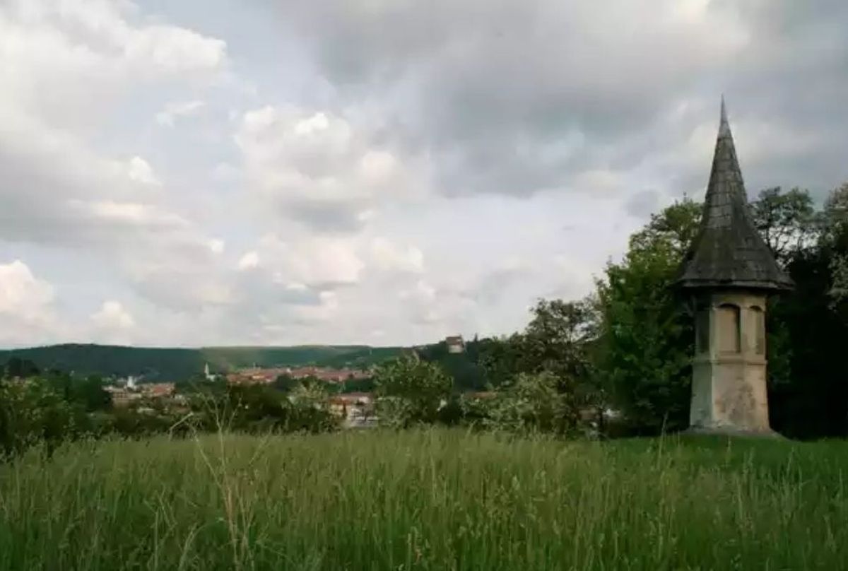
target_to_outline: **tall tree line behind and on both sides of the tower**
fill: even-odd
[[[795,282],[767,307],[773,428],[799,439],[846,436],[848,184],[820,207],[805,189],[768,188],[750,209]],[[683,199],[651,216],[631,236],[622,260],[609,262],[596,278],[593,294],[540,299],[523,331],[474,339],[466,355],[449,355],[438,345],[421,351],[424,361],[454,378],[453,396],[444,389],[439,399],[489,426],[578,434],[590,428],[610,436],[686,428],[694,319],[673,283],[701,211],[702,204]],[[469,400],[457,389],[487,389],[493,398]]]

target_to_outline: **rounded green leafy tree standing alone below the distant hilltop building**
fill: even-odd
[[[422,361],[417,354],[377,367],[374,383],[377,417],[393,428],[435,423],[453,384],[441,367]]]

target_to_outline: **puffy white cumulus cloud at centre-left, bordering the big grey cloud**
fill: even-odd
[[[236,143],[251,188],[282,216],[319,231],[360,227],[381,201],[421,180],[342,115],[265,106],[243,115]]]

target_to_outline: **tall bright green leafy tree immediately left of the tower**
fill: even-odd
[[[685,428],[692,319],[672,285],[700,223],[700,205],[672,204],[630,238],[624,260],[598,281],[600,377],[633,430]]]

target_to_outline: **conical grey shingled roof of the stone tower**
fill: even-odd
[[[700,232],[683,263],[682,288],[790,289],[748,206],[734,137],[722,98],[722,120],[706,188]]]

